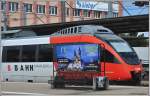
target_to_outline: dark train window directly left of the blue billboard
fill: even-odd
[[[52,46],[49,44],[39,45],[39,62],[51,62],[53,58]]]

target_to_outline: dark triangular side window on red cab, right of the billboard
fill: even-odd
[[[109,51],[107,50],[103,50],[101,53],[101,61],[102,62],[109,62],[109,63],[116,63],[119,64],[120,62],[118,61],[118,59]]]

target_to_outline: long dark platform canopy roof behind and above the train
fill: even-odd
[[[37,35],[50,35],[63,28],[78,25],[100,25],[111,29],[115,34],[137,33],[149,31],[149,15],[134,15],[116,18],[92,19],[82,21],[72,21],[64,23],[40,24],[20,27],[10,27],[11,30],[30,30]]]

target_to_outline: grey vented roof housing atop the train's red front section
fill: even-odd
[[[62,30],[59,30],[55,33],[52,34],[52,36],[59,36],[59,35],[72,35],[72,34],[89,34],[89,35],[94,35],[95,33],[99,34],[113,34],[113,32],[105,28],[103,26],[99,25],[80,25],[80,26],[73,26],[73,27],[68,27],[64,28]]]

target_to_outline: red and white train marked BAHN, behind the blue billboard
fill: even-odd
[[[24,78],[20,81],[36,82],[39,80],[40,82],[42,80],[40,76],[46,76],[45,80],[48,81],[51,79],[54,70],[52,68],[55,59],[53,53],[56,53],[56,50],[53,50],[53,45],[82,45],[85,43],[101,46],[101,58],[99,60],[101,69],[99,70],[105,70],[105,73],[102,74],[105,74],[109,80],[140,82],[142,66],[135,51],[125,40],[116,36],[111,30],[97,25],[69,27],[49,36],[3,40],[3,80],[15,81],[17,80],[15,76],[22,76],[18,77],[19,79]],[[43,44],[45,46],[41,46]],[[48,64],[45,65],[44,62]],[[31,68],[28,68],[27,65],[31,65]],[[56,69],[56,66],[54,67]],[[40,70],[39,73],[36,73],[37,70]],[[37,77],[40,79],[37,79]]]

